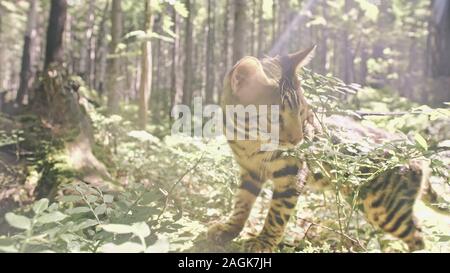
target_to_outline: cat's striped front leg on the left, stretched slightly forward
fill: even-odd
[[[241,171],[241,185],[236,193],[233,212],[226,222],[214,224],[209,228],[210,240],[226,243],[239,236],[262,185],[263,182],[256,175],[246,170]]]

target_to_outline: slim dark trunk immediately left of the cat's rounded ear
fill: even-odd
[[[208,0],[208,34],[206,38],[206,103],[214,102],[215,1]]]

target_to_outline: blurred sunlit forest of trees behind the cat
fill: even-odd
[[[450,101],[447,0],[166,0],[152,1],[148,13],[146,1],[67,2],[65,67],[109,94],[112,108],[139,98],[142,41],[151,36],[154,121],[193,96],[218,102],[225,73],[243,55],[311,44],[317,73],[433,106]],[[0,3],[1,102],[13,111],[43,70],[50,1]]]

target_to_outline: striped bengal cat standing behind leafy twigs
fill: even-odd
[[[223,244],[239,236],[263,184],[274,185],[270,210],[261,233],[246,242],[249,252],[272,252],[281,242],[285,227],[296,207],[304,185],[327,184],[324,175],[310,172],[308,162],[283,156],[283,150],[295,147],[305,135],[319,131],[306,102],[297,70],[313,58],[315,47],[295,54],[258,60],[245,57],[224,81],[222,107],[236,105],[277,105],[280,149],[263,151],[266,140],[229,140],[240,166],[241,184],[235,196],[233,212],[224,223],[208,230],[208,238]],[[236,117],[226,117],[234,120]],[[259,117],[260,118],[260,117]],[[249,131],[245,125],[246,133]],[[311,166],[310,166],[311,167]],[[423,247],[420,230],[412,218],[412,204],[419,195],[427,174],[423,165],[412,162],[374,178],[373,188],[364,205],[368,220],[403,239],[411,250]],[[398,181],[397,185],[392,185]],[[406,185],[414,185],[410,190]]]

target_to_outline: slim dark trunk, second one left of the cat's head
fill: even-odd
[[[192,102],[192,78],[193,78],[193,62],[192,62],[192,54],[193,54],[193,17],[194,17],[194,6],[195,0],[186,0],[186,9],[189,12],[188,17],[186,18],[186,32],[185,32],[185,60],[184,60],[184,80],[183,80],[183,104],[191,105]]]

